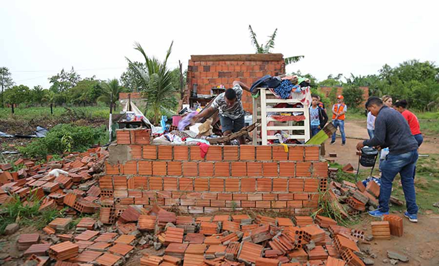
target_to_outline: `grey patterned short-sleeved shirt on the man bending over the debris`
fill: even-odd
[[[242,107],[242,88],[239,84],[233,86],[233,89],[236,92],[236,102],[232,106],[228,106],[225,101],[225,92],[215,98],[214,102],[212,102],[212,108],[219,109],[220,115],[228,117],[230,119],[237,119],[245,114],[244,108]]]

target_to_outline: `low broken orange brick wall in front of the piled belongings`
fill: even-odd
[[[319,146],[289,145],[286,153],[280,145],[211,145],[201,158],[197,145],[151,145],[141,132],[117,130],[118,143],[109,148],[100,188],[115,198],[116,209],[158,204],[188,213],[254,208],[308,214],[326,189],[328,164],[319,160]]]

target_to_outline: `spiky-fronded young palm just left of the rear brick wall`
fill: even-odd
[[[138,50],[145,59],[147,73],[126,58],[129,64],[134,68],[135,72],[146,84],[146,88],[143,92],[143,95],[146,98],[145,113],[152,111],[154,113],[155,123],[160,121],[162,109],[172,109],[177,104],[177,99],[175,97],[177,84],[173,84],[171,71],[166,67],[173,43],[174,41],[171,42],[163,62],[155,57],[148,57],[140,43],[135,43],[134,49]]]

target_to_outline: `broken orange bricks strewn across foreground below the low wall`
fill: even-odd
[[[154,205],[127,207],[114,225],[56,218],[45,235],[22,234],[25,263],[44,266],[364,266],[364,232],[317,215],[293,219],[248,214],[178,215]],[[367,238],[367,237],[366,237]],[[367,245],[366,245],[367,246]],[[148,252],[144,252],[145,250]],[[154,250],[155,249],[155,250]],[[134,256],[143,250],[143,257]]]

